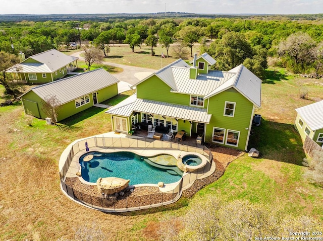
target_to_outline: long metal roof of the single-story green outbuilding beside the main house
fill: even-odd
[[[41,99],[44,99],[48,95],[55,95],[61,104],[64,104],[118,82],[118,79],[111,73],[107,72],[103,68],[98,68],[37,86],[29,91],[33,91]]]

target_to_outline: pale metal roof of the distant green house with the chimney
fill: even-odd
[[[68,65],[74,60],[77,60],[78,57],[66,55],[56,49],[50,49],[32,55],[27,59],[36,60],[38,63],[25,63],[26,60],[24,60],[15,65],[21,69],[20,72],[49,73]]]

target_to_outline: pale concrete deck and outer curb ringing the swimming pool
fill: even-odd
[[[103,134],[99,134],[99,135],[94,135],[94,136],[90,136],[90,137],[77,139],[77,140],[73,141],[72,143],[70,143],[65,148],[65,150],[62,152],[60,160],[59,160],[60,172],[61,172],[61,170],[63,169],[63,167],[65,165],[65,162],[67,160],[67,156],[70,153],[71,149],[73,148],[73,145],[75,145],[77,142],[84,141],[84,140],[86,141],[86,139],[90,139],[90,138],[93,138],[93,137],[96,137],[96,138],[97,137],[99,137],[99,138],[103,138],[103,137],[130,138],[131,137],[132,139],[145,139],[143,137],[135,137],[134,138],[133,136],[123,134],[123,133],[116,133],[116,132],[107,132],[107,133],[103,133]],[[186,184],[184,184],[184,183],[182,184],[183,186],[181,186],[181,189],[178,191],[178,195],[171,201],[167,201],[167,202],[164,202],[164,203],[162,202],[162,203],[157,203],[157,204],[151,204],[151,205],[148,205],[148,206],[134,207],[134,208],[121,208],[121,209],[118,209],[118,210],[117,209],[109,209],[109,208],[102,209],[100,207],[94,207],[94,206],[91,207],[89,205],[86,205],[86,204],[82,203],[79,200],[73,199],[71,196],[68,195],[68,193],[66,193],[66,191],[64,190],[64,188],[62,186],[62,182],[64,182],[64,180],[66,180],[66,178],[75,178],[75,177],[77,177],[84,184],[93,185],[93,186],[96,185],[96,183],[86,182],[83,178],[76,175],[76,173],[79,172],[80,168],[81,168],[80,165],[79,165],[80,156],[83,155],[84,153],[88,152],[88,151],[86,151],[85,148],[81,149],[81,150],[78,150],[77,153],[74,154],[74,156],[73,156],[73,158],[71,160],[71,164],[70,164],[70,166],[69,166],[69,168],[67,170],[67,173],[64,176],[64,180],[61,180],[61,185],[60,185],[61,190],[71,200],[73,200],[73,201],[75,201],[75,202],[77,202],[77,203],[79,203],[79,204],[81,204],[81,205],[83,205],[85,207],[92,208],[92,209],[95,209],[95,210],[100,210],[100,211],[103,211],[103,212],[134,211],[134,210],[140,210],[140,209],[151,208],[151,207],[158,207],[158,206],[163,206],[163,205],[174,203],[181,197],[182,192],[184,190],[190,188],[194,184],[195,180],[206,178],[206,177],[210,176],[211,174],[213,174],[214,171],[216,170],[216,164],[214,162],[210,162],[210,160],[208,158],[206,158],[203,154],[200,154],[200,153],[197,153],[197,152],[192,152],[192,151],[180,150],[178,148],[176,149],[176,148],[170,148],[170,147],[164,147],[164,148],[163,147],[162,148],[154,147],[154,148],[152,148],[152,147],[111,147],[111,146],[110,147],[99,147],[99,146],[93,146],[93,147],[90,147],[89,151],[101,151],[101,152],[131,151],[131,152],[134,152],[136,154],[144,155],[144,156],[148,156],[148,157],[149,156],[154,156],[156,154],[171,154],[177,160],[180,159],[178,157],[185,156],[185,155],[187,155],[189,153],[192,153],[192,154],[197,154],[198,156],[202,157],[202,160],[205,161],[204,163],[208,162],[210,164],[209,170],[204,172],[204,166],[205,166],[204,165],[203,168],[202,168],[203,172],[202,173],[197,172],[196,173],[196,178],[193,178],[191,180],[191,176],[189,176],[190,181],[188,183],[186,183]],[[144,152],[144,154],[142,154],[143,152]],[[185,165],[185,166],[188,166],[188,165]],[[190,168],[195,167],[195,168],[198,169],[199,166],[188,166],[188,167],[190,167]],[[196,171],[196,170],[193,170],[193,172],[194,171]],[[141,187],[141,186],[152,186],[152,187],[158,187],[159,191],[161,193],[174,193],[174,191],[176,189],[178,189],[180,182],[182,182],[184,180],[184,177],[186,175],[191,175],[192,174],[191,172],[184,172],[182,178],[178,182],[171,183],[171,184],[165,184],[164,187],[159,187],[156,184],[137,184],[137,185],[131,185],[129,187],[131,188],[131,187]]]

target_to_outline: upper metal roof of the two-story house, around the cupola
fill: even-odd
[[[229,71],[209,70],[207,74],[199,74],[196,79],[191,79],[190,66],[179,59],[154,74],[164,81],[172,92],[198,95],[207,99],[233,87],[256,106],[261,104],[261,79],[242,64]]]

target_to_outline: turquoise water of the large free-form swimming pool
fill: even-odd
[[[93,158],[89,162],[83,162],[83,158],[88,154],[92,154]],[[90,151],[80,157],[79,163],[82,178],[91,183],[96,183],[98,178],[117,177],[129,179],[129,185],[157,184],[158,182],[169,184],[182,178],[180,175],[182,172],[177,167],[157,165],[150,162],[148,157],[130,151],[113,153]]]

